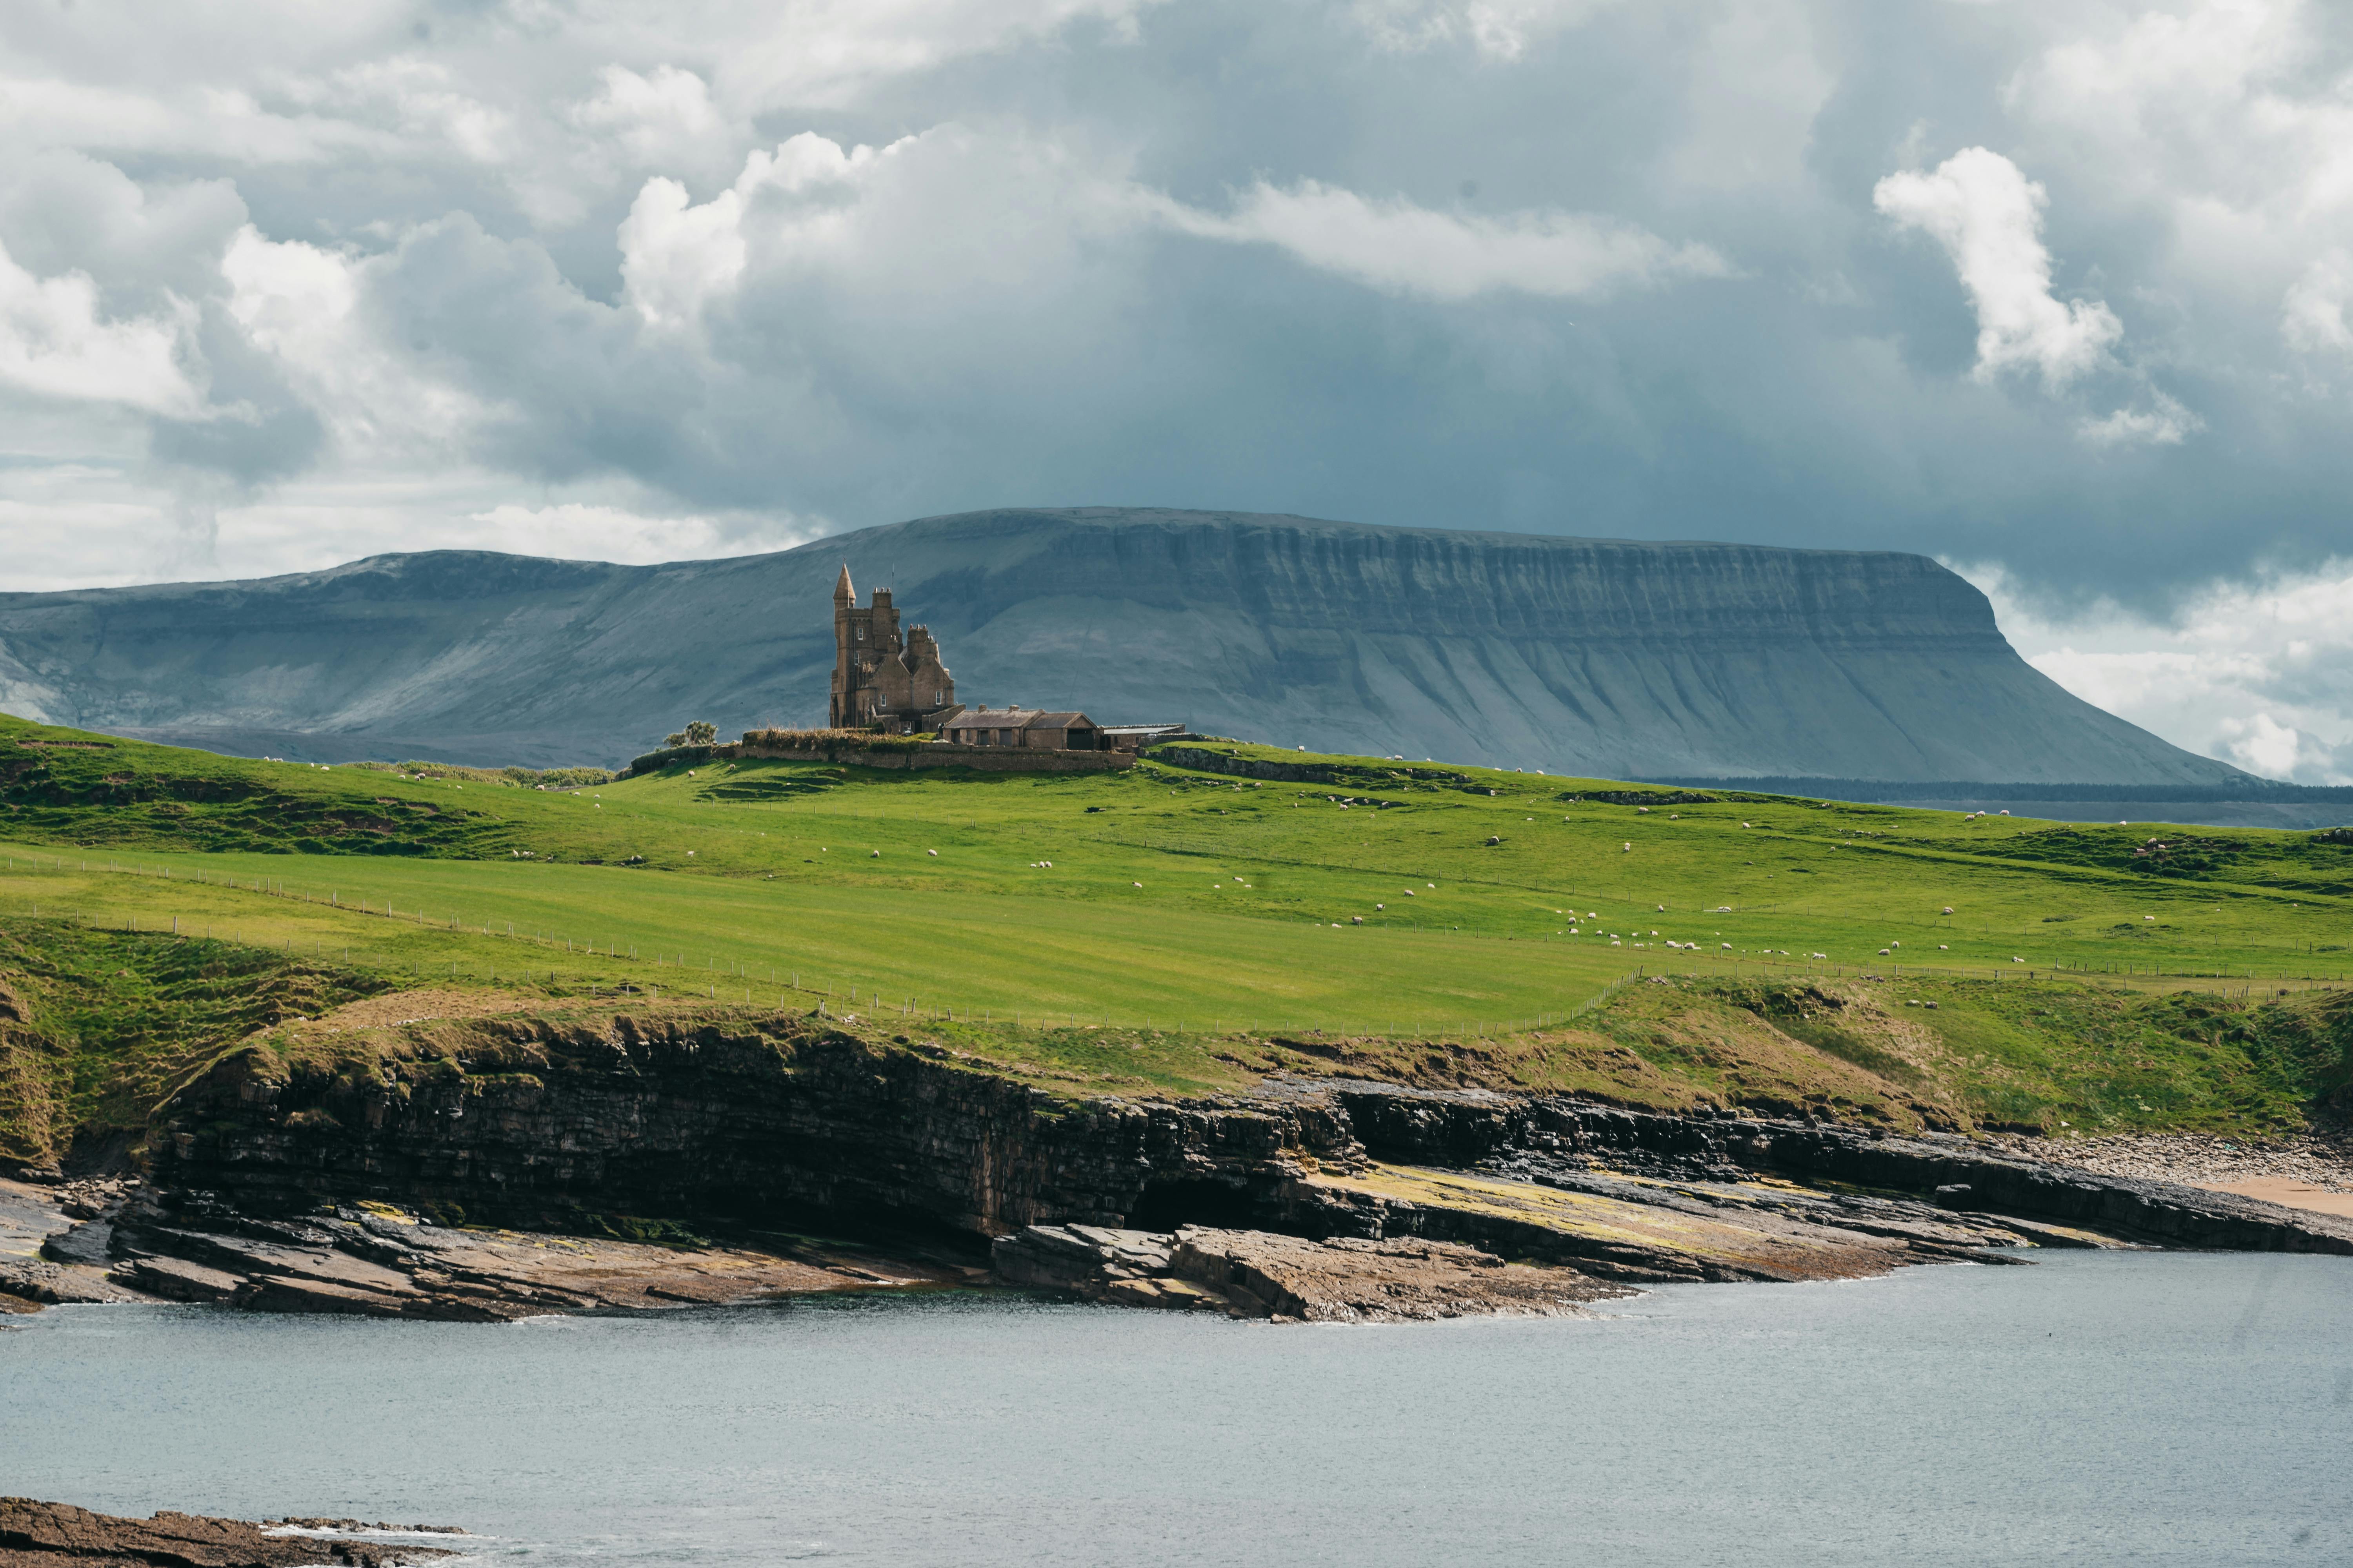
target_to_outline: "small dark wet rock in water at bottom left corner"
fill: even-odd
[[[393,1568],[438,1556],[452,1556],[452,1552],[447,1547],[353,1540],[341,1530],[332,1535],[264,1533],[264,1526],[242,1519],[169,1512],[148,1519],[118,1519],[64,1502],[0,1497],[0,1568],[306,1568],[313,1563]]]

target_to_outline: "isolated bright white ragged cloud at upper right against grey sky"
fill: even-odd
[[[2014,162],[1986,148],[1962,148],[1934,172],[1889,174],[1871,205],[1899,228],[1918,228],[1946,249],[1977,310],[1977,376],[2038,369],[2061,388],[2108,364],[2125,336],[2106,303],[2052,294],[2052,254],[2042,247],[2049,193]]]

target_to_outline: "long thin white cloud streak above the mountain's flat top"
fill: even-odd
[[[1395,197],[1367,200],[1311,179],[1287,190],[1259,181],[1231,214],[1176,202],[1162,212],[1188,235],[1273,244],[1367,287],[1440,301],[1489,292],[1588,299],[1732,273],[1732,263],[1706,244],[1671,244],[1624,219],[1541,209],[1464,216]]]

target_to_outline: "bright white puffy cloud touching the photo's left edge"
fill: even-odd
[[[21,393],[195,418],[205,395],[181,364],[186,327],[179,301],[106,320],[87,273],[35,277],[0,247],[0,383]]]

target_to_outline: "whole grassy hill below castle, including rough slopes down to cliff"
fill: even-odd
[[[216,952],[205,983],[824,997],[1080,1088],[1348,1070],[2113,1131],[2287,1126],[2344,1084],[2353,844],[2332,835],[1184,759],[567,785],[0,719],[0,931],[59,976],[113,973],[73,957],[104,936]],[[38,969],[14,973],[45,1037],[216,1046],[254,1018]]]

